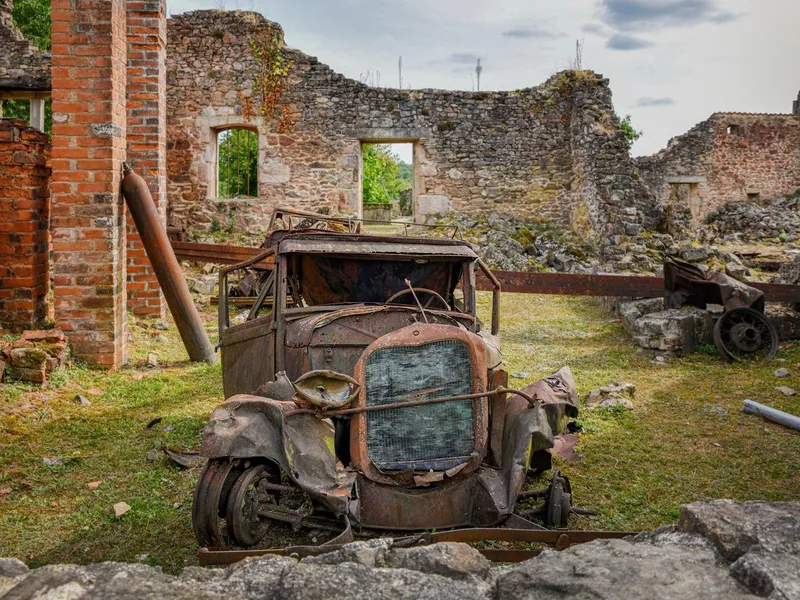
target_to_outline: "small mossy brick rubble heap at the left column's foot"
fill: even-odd
[[[10,381],[45,383],[66,358],[67,341],[60,329],[24,331],[13,342],[0,340],[0,381],[7,373]]]

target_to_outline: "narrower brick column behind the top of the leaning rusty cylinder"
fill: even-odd
[[[166,2],[127,0],[128,162],[150,186],[167,219]],[[128,215],[128,308],[163,317],[164,296]]]

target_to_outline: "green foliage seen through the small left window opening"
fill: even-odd
[[[258,133],[227,129],[217,137],[217,196],[258,196]]]

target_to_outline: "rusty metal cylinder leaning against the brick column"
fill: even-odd
[[[211,345],[200,320],[200,313],[189,293],[189,286],[186,285],[178,259],[172,250],[167,230],[161,223],[150,189],[145,180],[127,164],[124,173],[122,194],[189,358],[196,362],[214,363],[217,360],[214,346]]]

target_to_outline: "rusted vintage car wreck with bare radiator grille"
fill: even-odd
[[[227,400],[204,430],[199,544],[255,547],[273,520],[340,539],[351,527],[535,527],[514,509],[577,416],[570,370],[506,387],[499,285],[487,332],[476,271],[493,277],[466,242],[319,219],[273,231],[262,254],[220,273]],[[232,320],[228,290],[245,272],[257,296]],[[565,478],[525,494],[546,498],[548,526],[566,525]]]

